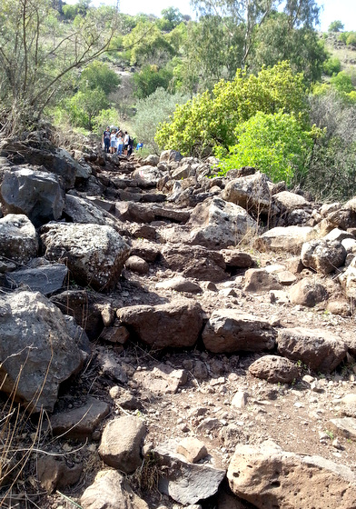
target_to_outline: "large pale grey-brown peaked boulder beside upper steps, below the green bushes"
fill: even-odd
[[[189,224],[193,226],[189,242],[209,249],[237,245],[249,231],[258,229],[245,209],[217,197],[196,205]]]

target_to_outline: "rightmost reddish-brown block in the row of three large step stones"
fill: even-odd
[[[302,361],[313,371],[331,373],[347,352],[339,335],[319,329],[280,329],[278,351],[292,361]]]

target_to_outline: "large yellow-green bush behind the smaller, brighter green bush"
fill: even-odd
[[[161,148],[183,155],[208,155],[215,146],[227,149],[236,142],[234,129],[257,112],[299,115],[307,121],[302,74],[293,74],[287,62],[262,68],[257,75],[238,71],[232,82],[222,80],[213,88],[178,106],[169,122],[155,136]]]

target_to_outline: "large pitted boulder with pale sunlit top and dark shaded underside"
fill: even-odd
[[[78,284],[112,290],[130,248],[112,226],[49,224],[41,240],[48,260],[65,262]]]

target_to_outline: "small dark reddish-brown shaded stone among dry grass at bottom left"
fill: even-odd
[[[83,464],[68,466],[64,458],[40,456],[37,460],[37,475],[41,486],[52,494],[58,489],[66,488],[79,481]]]

